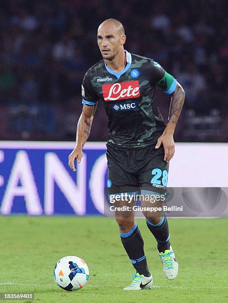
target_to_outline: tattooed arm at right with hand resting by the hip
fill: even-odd
[[[166,162],[169,162],[172,159],[175,152],[173,135],[178,122],[178,118],[182,111],[185,96],[184,90],[179,83],[177,83],[177,87],[171,96],[172,99],[170,103],[168,123],[163,134],[158,138],[158,142],[155,146],[155,149],[158,149],[161,144],[163,144],[165,150],[164,160]]]

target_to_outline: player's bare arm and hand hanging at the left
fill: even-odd
[[[87,142],[87,139],[90,135],[92,120],[96,111],[96,104],[89,106],[84,104],[82,114],[78,121],[77,134],[76,134],[76,144],[74,150],[69,154],[69,167],[76,171],[74,161],[77,159],[77,162],[81,162],[83,156],[82,149],[84,144]]]

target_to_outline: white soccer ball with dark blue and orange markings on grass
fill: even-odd
[[[61,258],[54,267],[54,280],[66,291],[75,291],[87,284],[89,268],[83,259],[75,255]]]

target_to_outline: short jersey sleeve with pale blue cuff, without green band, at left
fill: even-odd
[[[82,83],[82,103],[86,105],[95,105],[98,98],[94,92],[91,84],[91,77],[89,71],[86,73]]]

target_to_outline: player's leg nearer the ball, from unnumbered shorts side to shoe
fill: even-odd
[[[112,198],[116,194],[134,194],[134,190],[138,189],[137,179],[128,171],[129,165],[127,164],[126,150],[109,147],[107,145],[107,159],[108,159],[108,179],[109,179],[109,196]],[[137,194],[137,192],[136,192]],[[126,197],[124,195],[124,197]],[[114,206],[133,206],[125,199],[116,201]],[[144,253],[144,243],[141,233],[135,222],[134,212],[132,210],[116,211],[116,221],[119,225],[120,239],[128,254],[134,268],[136,275],[131,285],[125,290],[141,290],[143,288],[150,288],[152,286],[152,277],[150,275],[146,256]]]

